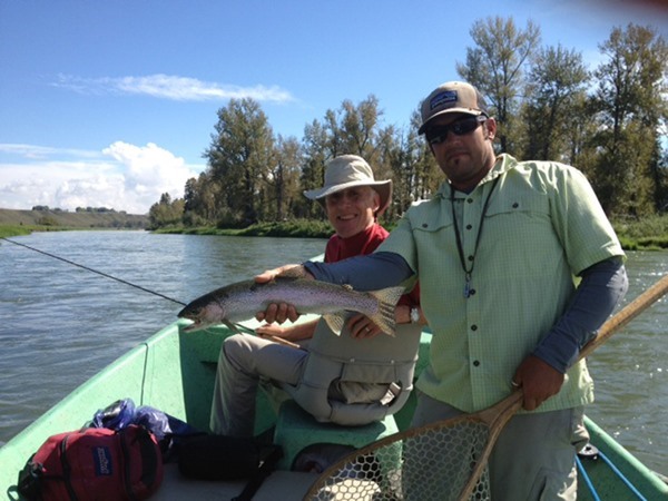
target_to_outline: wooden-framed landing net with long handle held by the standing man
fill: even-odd
[[[651,287],[625,306],[615,316],[609,318],[599,330],[597,337],[590,341],[580,351],[578,362],[589,356],[615,332],[628,324],[666,293],[668,293],[668,275],[664,275]],[[474,414],[464,414],[458,418],[409,429],[386,436],[377,442],[373,442],[370,445],[348,454],[323,471],[304,497],[304,501],[428,501],[430,499],[456,499],[458,501],[489,500],[490,488],[487,462],[503,428],[522,406],[522,389],[518,389],[491,407]],[[426,482],[420,484],[421,490],[416,493],[416,497],[413,497],[413,493],[406,489],[404,469],[406,462],[413,461],[406,452],[411,451],[411,454],[414,456],[420,456],[421,452],[423,454],[430,453],[429,449],[434,449],[434,442],[442,441],[436,440],[436,435],[442,434],[442,432],[446,430],[456,431],[458,429],[465,429],[469,426],[475,426],[478,431],[472,434],[472,438],[466,439],[469,440],[469,442],[466,442],[468,446],[464,448],[461,444],[454,443],[453,448],[454,450],[461,449],[472,451],[472,455],[463,458],[459,465],[460,471],[466,472],[469,470],[466,468],[466,461],[469,461],[470,473],[468,474],[465,482],[461,482],[461,475],[456,472],[450,472],[445,475],[449,481],[452,481],[449,487],[449,493],[442,490],[440,483],[432,482],[435,487],[430,488],[429,482]],[[463,433],[462,435],[466,436],[466,433]],[[480,454],[478,454],[478,450],[480,449],[479,443],[482,438],[484,438],[485,442]],[[421,439],[424,442],[422,445],[419,443]],[[440,444],[436,449],[450,449],[451,445],[453,445],[452,441],[451,443]],[[416,449],[411,450],[413,446]],[[385,461],[384,458],[392,456],[392,454],[394,454],[395,458],[394,464],[383,464]],[[455,454],[455,458],[456,456],[458,454]],[[370,458],[373,460],[370,460]],[[377,464],[377,466],[373,466],[373,464]],[[385,472],[383,472],[383,468],[386,470]],[[381,474],[373,477],[375,473],[374,469],[380,469]],[[431,492],[430,489],[434,490],[434,492]],[[454,498],[453,495],[458,497]]]

